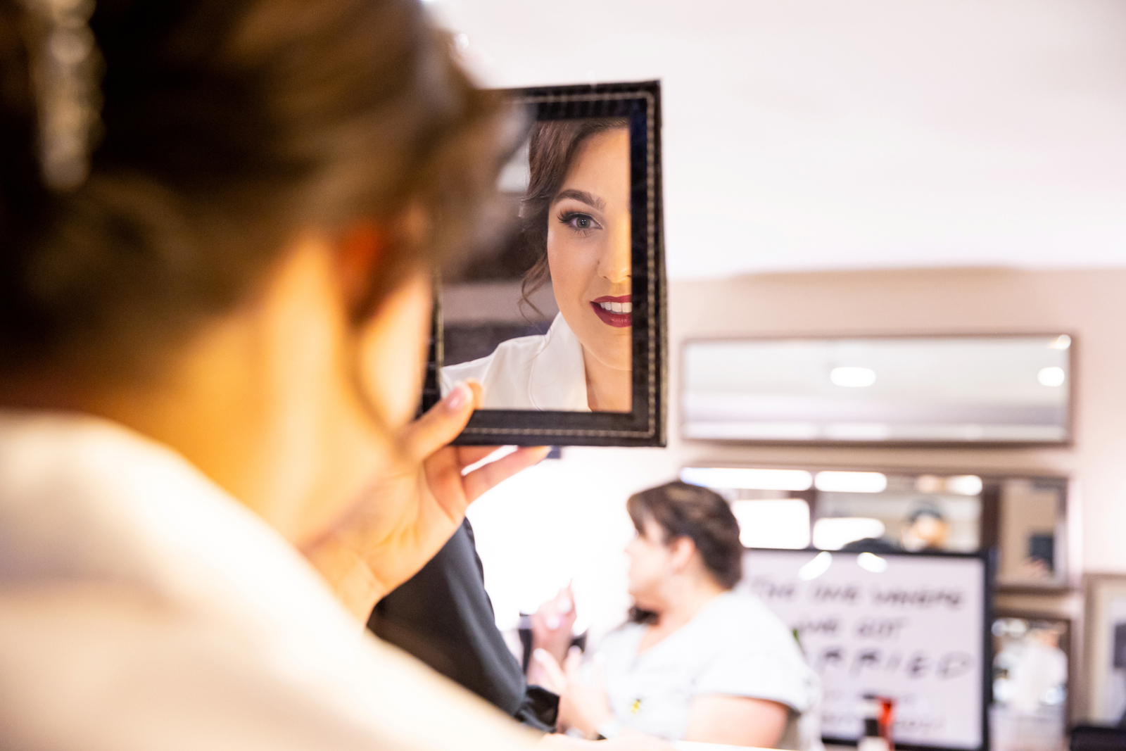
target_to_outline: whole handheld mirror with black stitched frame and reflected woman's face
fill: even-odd
[[[439,281],[423,405],[476,381],[457,442],[663,446],[660,86],[503,95],[519,146]]]

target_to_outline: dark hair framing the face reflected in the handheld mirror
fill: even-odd
[[[520,293],[524,303],[535,309],[530,295],[547,284],[547,222],[552,202],[563,187],[571,162],[583,142],[592,135],[625,128],[624,117],[540,120],[531,126],[528,143],[528,189],[520,202],[522,233],[527,247],[536,258],[535,265],[524,275]]]

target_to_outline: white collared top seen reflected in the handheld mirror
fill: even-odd
[[[558,313],[543,336],[502,341],[492,355],[441,368],[441,394],[470,378],[484,386],[486,410],[589,412],[582,345]]]

